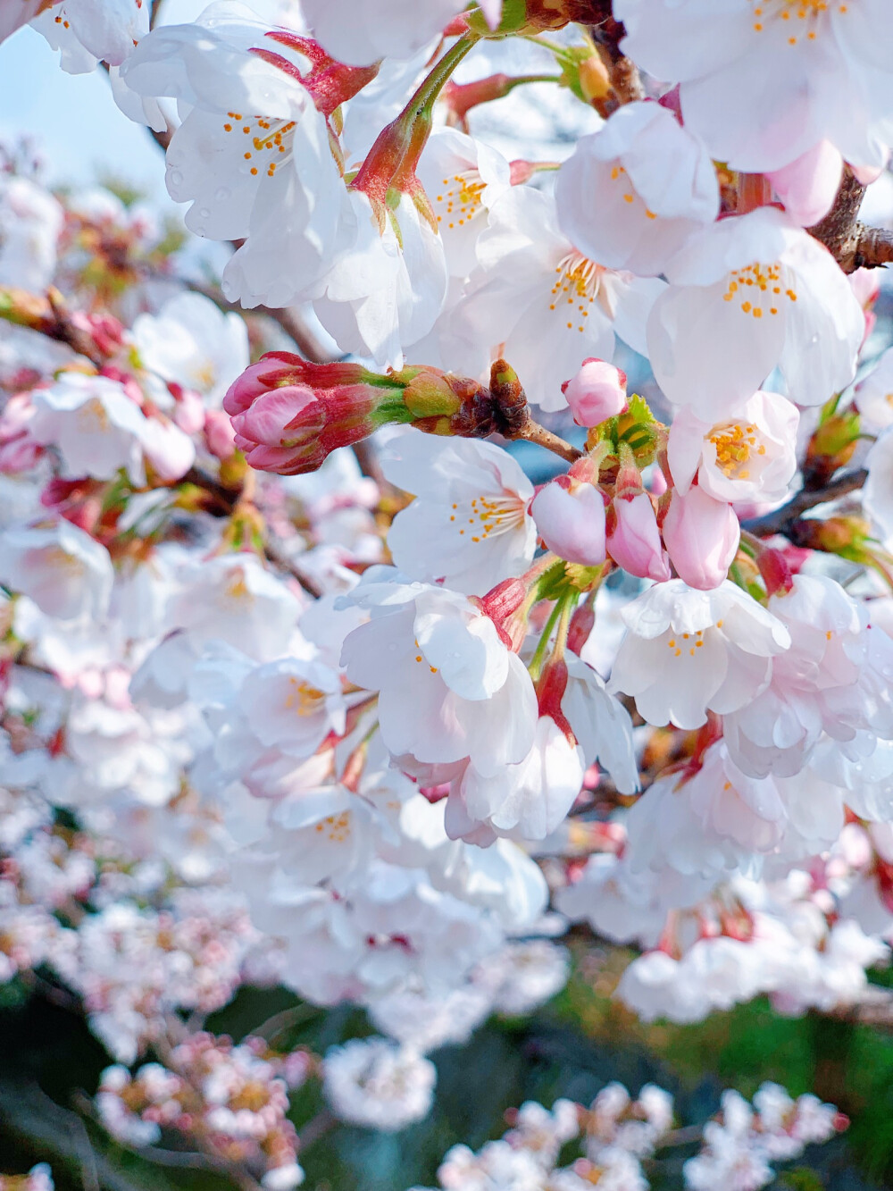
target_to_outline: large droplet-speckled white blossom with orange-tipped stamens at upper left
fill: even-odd
[[[196,235],[245,241],[223,275],[244,306],[296,301],[352,233],[326,119],[289,73],[306,58],[280,32],[219,0],[194,24],[155,29],[123,69],[138,94],[188,106],[168,146],[168,191],[192,204]]]

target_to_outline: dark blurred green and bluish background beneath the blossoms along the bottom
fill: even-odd
[[[622,952],[574,946],[567,989],[523,1019],[491,1019],[463,1047],[443,1047],[435,1108],[398,1134],[336,1124],[319,1084],[293,1097],[300,1129],[314,1120],[316,1140],[301,1152],[308,1191],[407,1191],[432,1186],[450,1146],[476,1149],[506,1129],[505,1112],[525,1099],[550,1106],[560,1097],[588,1104],[612,1079],[633,1093],[645,1083],[675,1098],[680,1124],[702,1123],[724,1087],[750,1097],[763,1080],[792,1096],[814,1091],[850,1118],[849,1130],[780,1167],[780,1191],[874,1191],[893,1186],[893,1037],[845,1019],[780,1017],[766,1000],[716,1014],[697,1025],[638,1022],[611,993]],[[1,990],[0,1171],[52,1166],[58,1191],[229,1191],[226,1174],[191,1165],[150,1162],[112,1142],[89,1115],[108,1056],[85,1021],[46,992]],[[206,1028],[235,1040],[274,1015],[277,1049],[324,1053],[374,1033],[366,1015],[341,1006],[301,1005],[285,989],[243,989]],[[681,1189],[681,1167],[695,1145],[680,1146],[649,1168],[655,1191]],[[171,1161],[188,1164],[183,1154]]]

